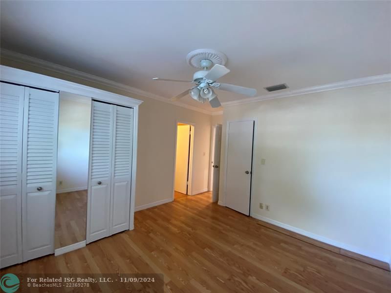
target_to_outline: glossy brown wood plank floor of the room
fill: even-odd
[[[208,192],[136,212],[132,231],[2,273],[154,272],[165,292],[390,292],[390,272],[260,224],[211,203]]]

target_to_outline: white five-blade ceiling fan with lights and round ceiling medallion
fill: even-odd
[[[199,49],[190,52],[186,59],[190,65],[195,68],[202,69],[194,73],[193,81],[173,80],[158,77],[153,78],[155,81],[195,84],[194,87],[176,95],[171,98],[170,101],[178,101],[187,94],[190,94],[195,101],[201,103],[209,101],[213,108],[217,108],[221,106],[221,104],[217,99],[214,89],[221,89],[250,97],[257,94],[257,90],[255,88],[217,82],[220,77],[230,72],[230,70],[224,66],[227,61],[227,57],[221,52],[217,52],[212,49]]]

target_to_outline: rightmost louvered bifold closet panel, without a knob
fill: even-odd
[[[114,106],[110,235],[129,230],[133,109]]]

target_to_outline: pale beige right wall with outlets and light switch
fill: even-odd
[[[251,213],[389,261],[390,99],[385,83],[225,107],[219,202],[226,122],[256,118]]]

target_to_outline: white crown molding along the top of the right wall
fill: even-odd
[[[347,87],[353,87],[353,86],[360,86],[360,85],[368,85],[368,84],[381,84],[381,83],[389,83],[391,82],[391,74],[383,74],[383,75],[375,75],[375,76],[369,76],[364,78],[358,78],[343,82],[337,82],[332,84],[324,84],[324,85],[316,85],[311,87],[304,87],[300,89],[293,89],[293,90],[286,90],[281,93],[275,93],[275,94],[266,94],[254,98],[248,98],[244,100],[239,101],[230,101],[230,102],[224,102],[221,103],[223,107],[227,106],[234,106],[234,105],[241,105],[241,104],[248,104],[248,103],[255,103],[265,100],[272,100],[272,99],[279,99],[279,98],[286,98],[286,97],[292,97],[292,96],[299,96],[299,95],[305,95],[305,94],[311,94],[311,93],[317,93],[317,92],[323,92],[333,89],[341,89],[341,88],[347,88]]]

